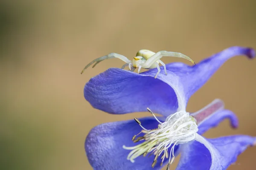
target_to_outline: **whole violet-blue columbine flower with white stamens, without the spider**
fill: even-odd
[[[206,139],[201,135],[223,119],[230,119],[232,127],[237,127],[237,117],[225,110],[219,99],[196,113],[186,112],[186,104],[227,59],[236,55],[253,58],[255,52],[251,48],[231,47],[194,66],[170,63],[166,65],[168,75],[161,71],[157,79],[156,69],[136,74],[119,68],[91,78],[84,87],[84,97],[94,108],[111,114],[150,108],[162,115],[155,117],[152,113],[154,117],[94,127],[85,141],[93,169],[160,170],[179,153],[176,170],[224,170],[235,162],[240,153],[256,143],[256,137]]]

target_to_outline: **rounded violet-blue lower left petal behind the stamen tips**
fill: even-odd
[[[159,118],[161,119],[161,118]],[[143,127],[156,128],[158,122],[153,117],[140,118]],[[141,127],[134,121],[111,122],[94,127],[85,141],[87,158],[94,170],[149,170],[154,161],[153,156],[139,156],[134,163],[127,160],[131,150],[122,148],[135,146],[132,137],[141,131]],[[140,135],[139,135],[140,136]],[[178,147],[175,147],[177,150]],[[164,161],[166,163],[168,159]],[[154,170],[160,170],[161,159],[157,161]]]

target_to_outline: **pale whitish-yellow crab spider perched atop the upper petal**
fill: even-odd
[[[134,71],[136,68],[138,68],[137,73],[140,73],[141,68],[146,68],[146,69],[157,68],[158,71],[154,77],[154,78],[157,78],[157,75],[160,73],[159,63],[163,65],[165,74],[167,75],[166,65],[160,60],[160,58],[162,57],[180,57],[180,58],[187,59],[193,64],[195,64],[195,62],[190,57],[181,53],[171,52],[171,51],[158,51],[157,53],[154,53],[153,51],[149,51],[149,50],[140,50],[137,52],[136,57],[134,57],[132,61],[126,58],[125,56],[117,53],[110,53],[103,57],[94,59],[92,62],[90,62],[88,65],[85,66],[81,74],[84,72],[86,68],[88,68],[94,62],[95,64],[93,65],[93,67],[95,67],[99,62],[101,62],[104,59],[119,58],[122,61],[126,62],[126,64],[122,66],[122,69],[124,69],[126,66],[128,66],[129,70],[131,71]]]

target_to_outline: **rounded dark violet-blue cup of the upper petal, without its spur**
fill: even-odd
[[[170,77],[172,73],[168,73]],[[108,113],[142,112],[150,108],[167,117],[178,105],[175,91],[160,79],[163,76],[167,78],[160,74],[154,79],[147,74],[110,68],[87,82],[84,98],[94,108]]]

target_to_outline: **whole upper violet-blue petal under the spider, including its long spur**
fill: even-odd
[[[110,68],[90,79],[84,87],[84,97],[99,110],[122,114],[147,111],[169,116],[177,110],[185,110],[189,97],[227,60],[236,55],[254,57],[251,48],[231,47],[189,66],[175,62],[163,67],[157,79],[157,69],[141,74]]]

